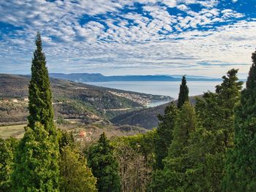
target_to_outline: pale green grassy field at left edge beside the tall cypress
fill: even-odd
[[[26,126],[26,124],[15,126],[0,126],[0,137],[3,139],[7,139],[8,137],[15,137],[20,139],[24,134],[24,126]]]

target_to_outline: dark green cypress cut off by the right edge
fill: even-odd
[[[255,191],[256,188],[256,51],[235,110],[234,147],[225,166],[225,191]]]

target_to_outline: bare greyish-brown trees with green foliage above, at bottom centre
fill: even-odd
[[[121,137],[115,141],[116,156],[120,165],[121,191],[146,191],[151,183],[154,132]]]

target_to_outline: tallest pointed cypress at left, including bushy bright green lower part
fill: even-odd
[[[31,66],[29,124],[15,154],[13,191],[59,191],[59,145],[39,32]]]

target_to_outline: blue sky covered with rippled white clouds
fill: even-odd
[[[0,0],[0,73],[30,73],[36,31],[50,73],[244,78],[256,0]]]

